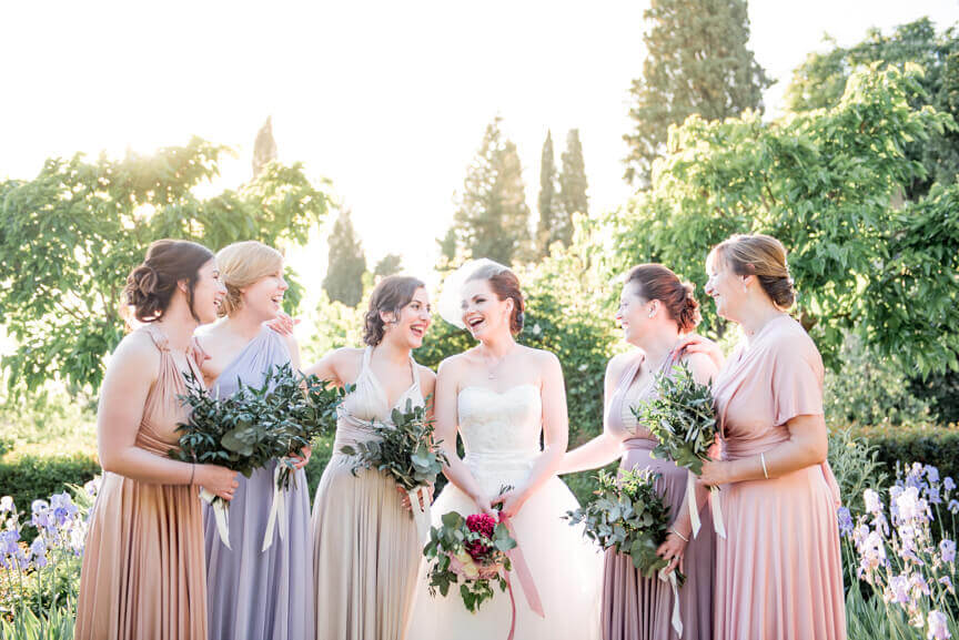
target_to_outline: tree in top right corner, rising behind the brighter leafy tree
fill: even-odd
[[[830,49],[810,53],[793,74],[786,103],[794,112],[835,106],[842,98],[850,73],[876,64],[922,68],[917,90],[909,95],[915,109],[930,105],[959,119],[959,33],[951,27],[936,33],[935,24],[922,18],[897,27],[889,35],[871,29],[866,39],[844,49],[835,40]],[[951,129],[933,132],[929,140],[905,145],[910,159],[922,162],[926,172],[906,184],[908,199],[925,195],[933,182],[951,184],[959,172],[959,133]]]

